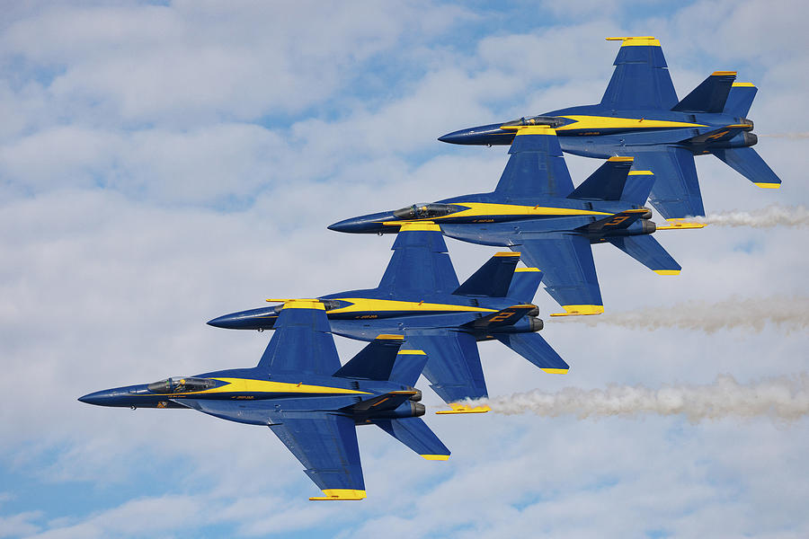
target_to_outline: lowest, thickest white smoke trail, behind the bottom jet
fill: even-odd
[[[809,375],[779,376],[752,384],[739,384],[733,376],[722,375],[709,385],[672,384],[660,389],[615,384],[607,389],[565,387],[556,393],[534,390],[472,404],[488,404],[493,412],[508,415],[532,412],[579,419],[682,414],[692,422],[757,417],[793,421],[809,414]]]

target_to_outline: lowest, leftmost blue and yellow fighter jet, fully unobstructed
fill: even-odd
[[[289,302],[257,367],[237,368],[84,395],[81,402],[131,408],[186,408],[270,427],[324,491],[310,499],[363,499],[357,425],[377,425],[427,460],[449,449],[419,418],[413,388],[427,360],[378,335],[341,367],[324,305]]]

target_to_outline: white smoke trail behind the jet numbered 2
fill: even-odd
[[[743,329],[760,332],[776,326],[779,330],[805,331],[809,329],[809,297],[775,296],[740,298],[732,296],[725,301],[706,303],[691,301],[680,304],[638,309],[627,313],[599,314],[598,316],[562,316],[547,322],[614,325],[633,330],[705,331]],[[769,325],[771,324],[771,325]]]

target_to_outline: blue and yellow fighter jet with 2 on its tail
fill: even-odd
[[[380,333],[404,335],[405,348],[425,351],[424,376],[451,408],[438,413],[488,411],[464,402],[487,396],[479,340],[500,340],[546,372],[567,372],[565,361],[535,332],[543,324],[530,299],[542,273],[516,269],[518,253],[495,254],[458,285],[438,225],[403,225],[393,251],[378,287],[318,299],[337,335],[356,340],[373,340]],[[275,327],[278,316],[278,308],[271,306],[226,314],[209,324],[261,331]]]

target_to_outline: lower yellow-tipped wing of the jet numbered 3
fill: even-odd
[[[511,250],[542,270],[547,293],[565,307],[565,313],[552,316],[604,312],[590,240],[577,234],[542,234],[520,242]]]

